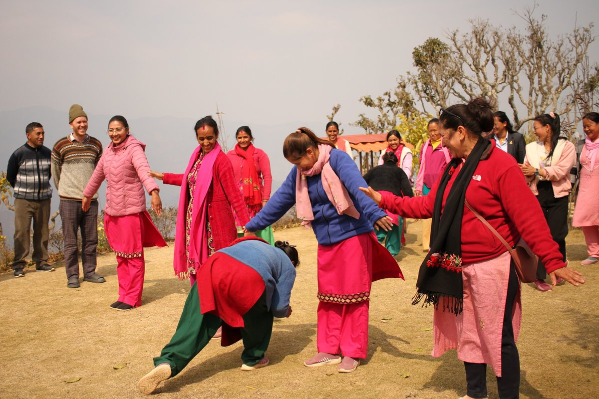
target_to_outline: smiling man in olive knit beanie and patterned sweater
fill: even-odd
[[[96,274],[98,247],[98,194],[92,197],[87,212],[81,209],[83,189],[92,177],[100,157],[102,144],[87,134],[87,114],[79,104],[69,109],[72,133],[56,142],[52,150],[52,177],[60,197],[60,219],[65,242],[65,270],[69,288],[78,288],[79,261],[77,231],[81,230],[81,262],[83,281],[101,283]]]

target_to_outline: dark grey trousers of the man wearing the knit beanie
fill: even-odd
[[[81,209],[81,201],[60,199],[60,220],[65,238],[66,278],[79,277],[77,230],[81,229],[81,263],[83,277],[96,271],[96,249],[98,248],[98,201],[92,201],[87,212]]]

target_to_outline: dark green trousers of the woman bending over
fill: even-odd
[[[222,324],[217,316],[199,309],[197,282],[191,287],[177,330],[171,342],[162,348],[159,357],[154,358],[154,366],[167,363],[171,366],[171,377],[176,376],[189,362],[204,349],[216,330]],[[273,333],[273,314],[267,310],[266,291],[248,312],[243,315],[245,327],[240,328],[243,340],[241,360],[247,366],[253,366],[264,358]]]

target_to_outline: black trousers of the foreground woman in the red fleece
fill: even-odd
[[[518,399],[520,389],[520,357],[514,329],[512,310],[518,294],[518,276],[513,264],[510,264],[510,277],[507,283],[506,313],[503,315],[501,332],[501,377],[497,377],[497,392],[501,399]],[[471,398],[487,397],[486,364],[464,362],[466,369],[466,392]]]

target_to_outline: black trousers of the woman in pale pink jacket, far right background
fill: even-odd
[[[543,209],[551,237],[558,244],[559,252],[565,262],[565,237],[568,235],[568,196],[555,198],[550,181],[540,181],[537,184],[537,191],[539,191],[537,200]],[[545,266],[539,260],[537,279],[544,280],[546,278]]]

